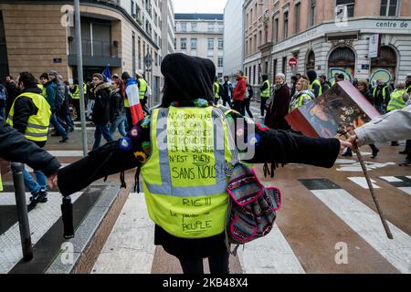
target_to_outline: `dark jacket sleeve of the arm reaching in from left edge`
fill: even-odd
[[[0,157],[10,162],[26,163],[35,170],[41,170],[46,176],[56,173],[61,166],[55,157],[35,143],[27,141],[1,118]]]

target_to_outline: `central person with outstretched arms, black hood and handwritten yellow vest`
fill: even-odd
[[[160,108],[119,142],[59,170],[58,188],[68,196],[100,177],[140,167],[148,214],[156,224],[154,244],[176,256],[185,274],[204,274],[205,257],[211,274],[227,274],[227,184],[236,147],[247,141],[249,152],[241,155],[248,163],[331,167],[340,147],[349,143],[270,130],[214,106],[216,67],[209,59],[169,54],[162,73]]]

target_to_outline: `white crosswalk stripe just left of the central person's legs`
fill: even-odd
[[[147,214],[144,195],[130,193],[92,274],[150,274],[153,242],[154,224]]]

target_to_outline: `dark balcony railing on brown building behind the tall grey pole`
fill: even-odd
[[[77,55],[76,41],[68,43],[69,55]],[[111,42],[90,41],[83,39],[81,42],[83,57],[118,57],[118,48]]]

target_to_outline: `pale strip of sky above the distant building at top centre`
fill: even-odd
[[[227,0],[173,0],[174,13],[224,13]]]

